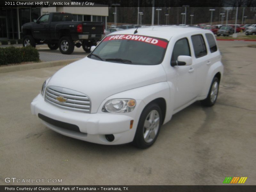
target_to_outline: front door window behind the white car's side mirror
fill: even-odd
[[[178,60],[180,55],[191,56],[187,38],[180,39],[175,43],[172,51],[172,61]]]

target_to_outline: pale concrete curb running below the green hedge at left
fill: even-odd
[[[24,71],[24,70],[38,69],[38,68],[45,68],[45,67],[55,67],[55,66],[60,66],[60,65],[68,65],[77,60],[80,60],[80,59],[48,61],[48,62],[40,62],[40,63],[28,63],[28,64],[23,64],[23,65],[21,64],[21,65],[14,65],[14,66],[5,66],[5,67],[0,67],[0,73],[8,73],[8,72],[13,72],[13,71]]]

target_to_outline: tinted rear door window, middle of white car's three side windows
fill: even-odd
[[[195,51],[195,57],[203,57],[204,55],[207,55],[204,38],[202,35],[194,35],[191,36],[194,51]]]

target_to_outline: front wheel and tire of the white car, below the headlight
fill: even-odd
[[[150,123],[154,119],[154,124]],[[156,103],[148,104],[140,115],[140,120],[133,139],[138,148],[148,148],[154,144],[162,125],[162,113]]]

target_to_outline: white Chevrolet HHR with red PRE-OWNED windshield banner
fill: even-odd
[[[147,148],[173,114],[196,100],[214,105],[222,74],[220,51],[209,30],[117,31],[47,79],[31,112],[69,137]]]

